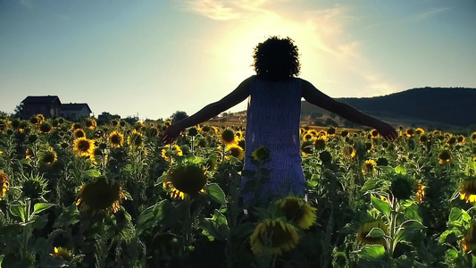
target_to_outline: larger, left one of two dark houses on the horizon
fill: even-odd
[[[60,108],[62,106],[58,96],[27,96],[21,104],[23,111],[21,116],[23,119],[41,113],[46,118],[57,117],[60,115]]]

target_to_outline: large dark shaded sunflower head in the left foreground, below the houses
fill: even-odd
[[[119,183],[100,177],[79,188],[76,205],[84,212],[109,214],[112,211],[115,214],[125,199]]]

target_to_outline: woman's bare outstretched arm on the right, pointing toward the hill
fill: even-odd
[[[369,126],[379,131],[380,135],[389,140],[397,138],[397,131],[384,121],[356,110],[354,107],[340,103],[330,96],[323,94],[310,82],[303,80],[302,96],[312,105],[322,107],[331,113],[337,113],[348,121]]]

